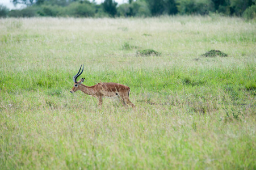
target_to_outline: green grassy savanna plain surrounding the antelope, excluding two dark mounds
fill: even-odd
[[[255,42],[217,15],[0,19],[0,169],[255,169]],[[81,63],[136,110],[70,94]]]

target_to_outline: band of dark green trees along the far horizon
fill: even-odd
[[[256,0],[129,0],[118,5],[114,0],[100,4],[87,0],[11,0],[26,5],[9,10],[0,4],[0,17],[150,17],[160,15],[208,15],[256,18]]]

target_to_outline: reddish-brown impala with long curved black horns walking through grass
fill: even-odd
[[[82,67],[82,65],[81,65]],[[94,86],[85,86],[83,81],[85,78],[80,79],[77,82],[77,78],[79,75],[83,73],[83,69],[80,73],[81,67],[77,74],[73,76],[74,86],[71,93],[74,93],[78,90],[81,90],[87,95],[94,96],[99,101],[99,107],[102,106],[102,98],[103,97],[109,97],[109,98],[119,98],[121,99],[121,103],[127,107],[128,105],[131,105],[133,108],[135,108],[135,105],[129,100],[129,94],[130,94],[130,88],[128,86],[124,86],[123,84],[119,83],[98,83]]]

